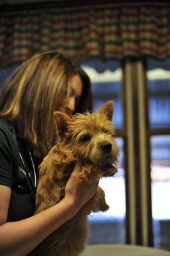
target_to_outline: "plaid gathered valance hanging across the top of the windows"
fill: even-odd
[[[91,57],[170,56],[169,5],[94,4],[0,12],[0,65],[57,50]]]

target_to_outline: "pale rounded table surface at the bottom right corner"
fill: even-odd
[[[86,246],[81,256],[170,256],[170,252],[128,244],[95,244]]]

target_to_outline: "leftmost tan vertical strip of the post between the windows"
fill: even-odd
[[[134,95],[132,89],[132,63],[125,61],[125,115],[127,115],[127,205],[128,205],[128,223],[129,223],[129,241],[130,244],[136,244],[136,183],[135,183],[135,152],[134,152]]]

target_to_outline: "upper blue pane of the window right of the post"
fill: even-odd
[[[170,71],[157,68],[147,72],[151,127],[170,126]]]

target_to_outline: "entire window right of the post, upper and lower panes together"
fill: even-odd
[[[170,246],[170,72],[147,73],[151,148],[151,199],[155,247]]]

